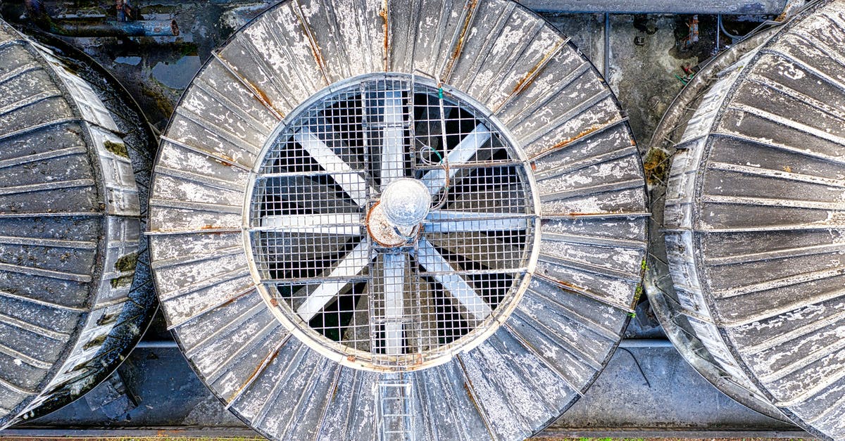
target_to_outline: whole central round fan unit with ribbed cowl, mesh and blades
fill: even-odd
[[[285,2],[162,137],[155,283],[268,438],[526,438],[619,343],[644,184],[607,84],[517,3]]]

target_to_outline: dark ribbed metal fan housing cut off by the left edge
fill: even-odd
[[[152,135],[67,51],[0,22],[0,427],[106,378],[155,304],[139,241]]]

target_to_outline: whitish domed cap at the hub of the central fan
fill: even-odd
[[[367,230],[384,247],[398,247],[417,237],[419,225],[431,210],[431,193],[418,179],[402,177],[384,188],[370,208]]]

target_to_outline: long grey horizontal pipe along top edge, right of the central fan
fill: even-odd
[[[538,12],[780,15],[788,0],[522,0]]]

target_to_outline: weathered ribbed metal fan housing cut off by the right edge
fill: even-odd
[[[672,155],[655,216],[671,279],[655,259],[647,283],[664,328],[707,378],[837,439],[843,40],[845,3],[817,3],[722,56],[679,96],[651,152]]]

